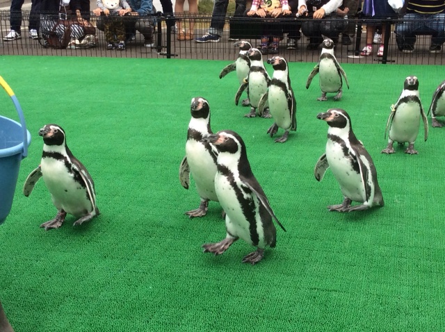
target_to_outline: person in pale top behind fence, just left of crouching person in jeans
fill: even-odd
[[[106,49],[125,49],[125,26],[124,16],[131,12],[130,5],[126,0],[97,0],[95,15],[103,17]]]

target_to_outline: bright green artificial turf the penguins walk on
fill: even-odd
[[[443,68],[345,64],[350,90],[322,103],[318,77],[305,89],[314,63],[291,63],[298,129],[277,144],[266,135],[271,119],[244,118],[248,109],[234,105],[235,74],[218,78],[227,63],[0,58],[33,135],[0,226],[0,299],[16,331],[444,330],[445,129],[430,127],[427,142],[421,130],[418,156],[380,154],[405,77],[419,78],[428,109]],[[241,264],[254,249],[242,240],[222,256],[202,254],[201,244],[225,237],[217,203],[206,217],[184,215],[199,204],[194,185],[184,190],[178,180],[196,96],[209,100],[214,132],[243,137],[287,229],[277,228],[277,247],[258,265]],[[17,119],[5,93],[0,103],[1,115]],[[316,114],[334,107],[348,111],[373,157],[383,208],[326,209],[343,197],[330,171],[314,179],[327,133]],[[21,192],[47,123],[65,129],[96,183],[102,214],[80,227],[69,216],[60,229],[40,229],[56,215],[44,183],[29,198]]]

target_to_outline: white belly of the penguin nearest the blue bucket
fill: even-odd
[[[83,217],[92,211],[86,188],[74,179],[63,161],[42,158],[40,167],[43,181],[58,210],[65,210],[75,217]]]

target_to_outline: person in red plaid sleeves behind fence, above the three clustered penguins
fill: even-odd
[[[282,15],[291,15],[288,0],[253,0],[252,7],[247,13],[248,16],[257,17],[273,17],[277,18]],[[261,25],[261,53],[263,54],[276,54],[278,53],[278,44],[282,30],[278,22],[267,22]],[[272,45],[268,48],[269,38],[272,38]]]

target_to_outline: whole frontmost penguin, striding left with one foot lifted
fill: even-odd
[[[264,249],[275,247],[276,229],[273,219],[284,227],[270,208],[263,189],[250,168],[245,144],[234,131],[218,131],[207,135],[207,142],[218,149],[215,190],[225,210],[226,238],[217,243],[203,244],[204,252],[223,254],[238,238],[257,247],[245,256],[243,263],[258,263]],[[284,229],[284,231],[286,231]]]

